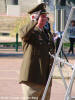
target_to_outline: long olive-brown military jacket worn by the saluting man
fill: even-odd
[[[30,21],[27,26],[20,29],[24,56],[19,82],[44,85],[51,69],[49,46],[46,42],[45,33],[39,30],[36,24],[37,22]]]

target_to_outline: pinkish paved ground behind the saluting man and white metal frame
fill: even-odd
[[[2,51],[0,52],[2,53]],[[8,52],[9,50],[6,51],[6,54],[8,54]],[[12,53],[14,52],[12,51]],[[0,56],[0,100],[23,100],[22,88],[18,83],[21,63],[22,55]],[[68,81],[69,80],[67,80],[67,83]],[[66,90],[62,80],[53,79],[50,100],[64,100],[65,92]],[[75,96],[75,82],[73,85],[72,95]]]

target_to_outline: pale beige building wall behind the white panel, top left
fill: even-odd
[[[6,1],[6,2],[5,2]],[[25,13],[37,5],[41,0],[18,0],[18,5],[20,5],[21,13]],[[11,4],[10,0],[0,0],[0,14],[5,14],[7,12],[7,5]]]

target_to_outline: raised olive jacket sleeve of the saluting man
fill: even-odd
[[[31,19],[23,25],[23,27],[20,28],[20,37],[23,39],[28,38],[29,34],[31,31],[34,29],[36,26],[37,21],[32,21]]]

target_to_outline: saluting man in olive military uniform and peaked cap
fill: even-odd
[[[43,91],[51,70],[49,45],[43,26],[46,24],[47,12],[45,3],[39,4],[35,9],[28,12],[29,18],[20,29],[23,42],[23,62],[20,70],[20,84],[22,84],[25,100],[41,100]],[[36,14],[37,12],[37,14]],[[35,13],[35,16],[33,16]],[[51,84],[45,100],[50,100]]]

